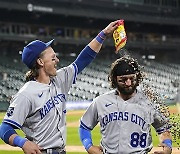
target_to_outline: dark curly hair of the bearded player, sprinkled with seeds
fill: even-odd
[[[138,64],[138,61],[136,59],[130,57],[129,55],[125,55],[111,64],[111,70],[108,75],[108,81],[110,82],[111,88],[117,88],[117,80],[116,80],[117,68],[119,67],[119,64],[121,62],[126,62],[130,67],[134,69],[134,72],[137,75],[137,86],[138,86],[144,77],[144,74],[141,71],[141,66]]]

